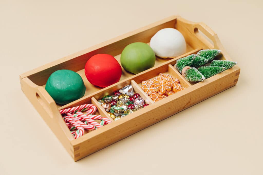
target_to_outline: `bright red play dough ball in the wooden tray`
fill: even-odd
[[[107,87],[120,80],[122,68],[113,56],[109,54],[97,54],[87,61],[85,75],[91,84]]]

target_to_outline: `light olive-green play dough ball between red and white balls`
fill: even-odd
[[[154,66],[155,54],[148,44],[131,43],[122,51],[120,63],[126,71],[140,73]]]

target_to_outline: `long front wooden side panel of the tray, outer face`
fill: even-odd
[[[157,123],[169,116],[180,112],[196,103],[199,103],[215,94],[234,86],[239,77],[240,68],[235,66],[231,70],[226,70],[222,74],[215,75],[194,86],[186,88],[184,91],[174,94],[159,102],[153,103],[149,108],[140,109],[140,113],[129,114],[129,117],[117,120],[107,128],[91,137],[85,136],[73,140],[75,151],[74,160],[77,161],[95,151],[98,151],[114,142],[117,142],[135,132],[138,132],[150,125]],[[200,96],[200,94],[203,94]],[[162,110],[160,110],[162,109]],[[165,115],[164,115],[165,114]],[[93,134],[93,133],[90,133]]]

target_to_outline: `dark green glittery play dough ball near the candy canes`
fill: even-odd
[[[84,96],[86,87],[80,75],[71,70],[53,72],[45,89],[58,104],[67,104]]]

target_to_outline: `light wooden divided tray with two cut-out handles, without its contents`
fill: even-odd
[[[128,73],[123,69],[120,81],[106,88],[95,87],[87,81],[84,75],[84,66],[91,56],[102,53],[110,54],[120,62],[120,54],[125,46],[133,42],[149,43],[151,37],[158,30],[163,28],[176,28],[184,35],[187,43],[186,54],[173,59],[161,59],[156,57],[156,63],[153,68],[136,75]],[[204,35],[209,38],[212,43],[208,41]],[[193,23],[180,16],[172,16],[23,73],[20,75],[21,89],[50,129],[52,129],[54,134],[58,137],[65,149],[73,159],[77,161],[234,86],[237,83],[240,73],[240,68],[238,66],[234,66],[199,83],[189,83],[173,68],[177,59],[194,54],[201,49],[220,49],[222,56],[219,59],[231,60],[222,47],[218,36],[204,23]],[[76,71],[83,78],[86,86],[84,97],[64,106],[57,105],[47,91],[45,91],[45,83],[48,77],[54,71],[60,69]],[[141,81],[157,76],[160,72],[169,72],[174,78],[178,78],[186,89],[158,102],[153,102],[140,89],[139,84]],[[102,128],[84,134],[78,139],[74,139],[65,125],[59,110],[92,103],[97,106],[97,113],[111,119],[106,111],[98,104],[97,100],[105,95],[112,94],[114,91],[128,84],[132,84],[134,90],[139,92],[150,105],[129,114],[127,117],[113,121],[111,124],[105,125]]]

